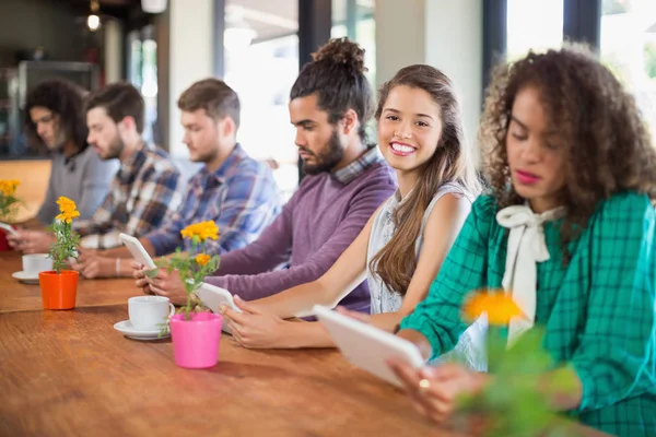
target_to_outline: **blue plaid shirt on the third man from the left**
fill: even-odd
[[[239,249],[259,237],[280,213],[281,199],[273,174],[266,164],[250,158],[237,144],[227,160],[212,174],[203,167],[189,180],[185,200],[166,223],[145,238],[157,256],[180,247],[191,250],[180,231],[197,223],[213,221],[219,239],[207,241],[208,253]]]

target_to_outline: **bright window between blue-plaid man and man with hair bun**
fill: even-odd
[[[237,134],[248,154],[268,162],[286,198],[298,185],[298,154],[288,108],[298,75],[296,2],[227,0],[224,80],[239,95]]]

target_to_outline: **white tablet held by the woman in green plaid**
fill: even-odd
[[[425,364],[419,349],[408,340],[327,307],[315,305],[313,309],[347,359],[378,378],[402,387],[387,361],[397,358],[413,367]]]

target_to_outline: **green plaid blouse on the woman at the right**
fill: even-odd
[[[421,332],[433,358],[448,352],[467,328],[467,293],[501,288],[507,229],[491,197],[480,197],[429,296],[401,322]],[[546,350],[574,367],[583,382],[579,420],[620,436],[656,436],[656,214],[635,192],[600,202],[570,245],[562,264],[560,221],[546,223],[550,259],[537,264],[536,324]]]

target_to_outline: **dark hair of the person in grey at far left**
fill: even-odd
[[[86,115],[84,113],[84,91],[72,82],[62,79],[44,81],[36,85],[25,102],[25,126],[27,134],[38,138],[36,126],[30,118],[30,109],[44,107],[59,116],[59,127],[67,140],[84,150],[86,147]]]

